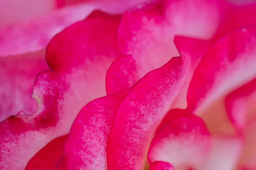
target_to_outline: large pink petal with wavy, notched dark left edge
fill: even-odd
[[[118,17],[96,11],[50,41],[46,59],[53,71],[35,80],[37,111],[0,123],[0,169],[24,169],[39,149],[69,132],[87,102],[105,95],[107,68],[120,55],[118,26]]]

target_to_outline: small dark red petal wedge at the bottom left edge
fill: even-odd
[[[30,159],[25,170],[54,170],[61,158],[67,135],[53,139]]]

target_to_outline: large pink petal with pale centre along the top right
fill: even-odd
[[[131,87],[146,73],[177,56],[175,35],[216,39],[234,28],[255,23],[255,15],[256,3],[237,7],[224,0],[156,0],[137,5],[124,14],[119,28],[121,51],[132,54],[130,60],[134,60],[135,66],[132,71],[123,71],[122,68],[130,67],[130,62],[123,65],[127,58],[118,59],[116,62],[120,63],[111,67],[122,68],[110,70],[119,71],[116,76],[119,81],[107,77],[107,87],[108,83],[116,83],[117,88],[109,85],[114,89],[108,91],[119,91],[120,85],[122,89]]]

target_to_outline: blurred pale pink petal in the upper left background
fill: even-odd
[[[0,56],[17,55],[46,48],[55,34],[83,20],[93,8],[87,4],[79,4],[55,11],[49,16],[1,28]]]

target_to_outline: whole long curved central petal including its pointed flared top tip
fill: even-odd
[[[188,87],[210,42],[186,37],[177,37],[175,41],[181,57],[146,74],[121,103],[107,146],[108,168],[140,170],[151,137],[167,111],[186,104],[183,88]],[[201,51],[197,50],[199,46]]]

